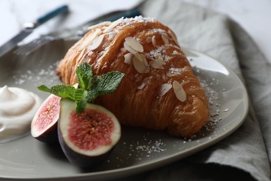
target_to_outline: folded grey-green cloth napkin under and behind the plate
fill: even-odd
[[[140,8],[145,17],[170,26],[181,46],[228,65],[246,84],[251,101],[245,122],[227,139],[142,178],[226,180],[237,174],[243,180],[270,180],[271,67],[252,39],[226,15],[183,1],[149,0]]]

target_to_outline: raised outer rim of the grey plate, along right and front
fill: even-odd
[[[30,177],[30,178],[29,177],[24,177],[24,178],[20,177],[19,178],[19,177],[13,176],[13,177],[4,177],[4,178],[6,178],[6,179],[30,179],[30,180],[33,180],[33,179],[69,180],[69,179],[75,179],[75,178],[106,179],[106,178],[112,178],[113,176],[114,176],[114,178],[121,178],[121,177],[128,176],[128,175],[134,175],[134,174],[140,173],[142,171],[150,171],[151,169],[158,168],[160,166],[165,166],[166,164],[170,164],[172,162],[179,161],[179,160],[183,159],[184,157],[188,157],[190,155],[193,155],[196,152],[202,151],[202,150],[210,147],[211,145],[214,145],[215,143],[222,141],[223,139],[227,138],[229,135],[233,134],[233,132],[236,132],[236,130],[241,125],[243,125],[243,123],[245,122],[245,118],[247,118],[247,115],[249,113],[249,96],[247,93],[247,88],[245,87],[245,83],[240,79],[240,77],[238,77],[238,75],[235,72],[233,72],[233,70],[231,70],[231,68],[229,68],[228,65],[225,65],[224,63],[218,61],[216,58],[213,58],[212,56],[209,56],[208,54],[199,52],[197,50],[190,49],[188,47],[181,47],[181,49],[183,50],[183,52],[185,52],[185,54],[187,54],[187,52],[200,54],[201,56],[206,56],[208,58],[211,58],[212,61],[220,63],[220,65],[222,65],[224,68],[226,68],[229,71],[229,73],[231,74],[231,76],[233,76],[236,79],[236,81],[238,81],[238,84],[240,84],[241,88],[244,91],[243,102],[245,103],[245,106],[244,106],[245,112],[243,113],[242,117],[239,119],[238,124],[236,124],[235,127],[229,129],[227,132],[224,132],[223,134],[220,134],[215,139],[211,139],[209,141],[204,142],[204,144],[202,144],[202,145],[196,145],[192,148],[188,148],[182,154],[176,152],[173,155],[167,155],[166,157],[159,158],[156,160],[151,160],[149,162],[145,162],[145,163],[134,165],[134,166],[127,166],[124,168],[116,168],[116,169],[106,170],[106,171],[95,171],[95,172],[90,172],[90,173],[74,173],[74,175],[69,175],[69,176],[64,175],[64,176]],[[189,58],[189,56],[188,56],[188,58]],[[119,173],[121,173],[121,175]],[[133,174],[131,174],[131,173],[133,173]],[[3,176],[0,175],[0,178],[3,178]]]

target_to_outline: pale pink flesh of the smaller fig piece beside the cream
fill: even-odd
[[[42,107],[42,110],[40,110],[37,121],[34,123],[34,126],[37,127],[39,132],[47,129],[48,125],[58,117],[60,112],[60,99],[58,96],[52,96],[47,100],[47,106]]]

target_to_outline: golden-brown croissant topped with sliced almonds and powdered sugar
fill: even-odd
[[[97,74],[125,74],[117,91],[98,97],[123,125],[166,129],[190,137],[208,123],[208,100],[173,31],[154,18],[121,18],[90,27],[56,70],[65,84],[76,84],[83,61]]]

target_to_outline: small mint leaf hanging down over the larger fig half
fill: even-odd
[[[74,101],[76,102],[76,113],[83,113],[85,111],[88,97],[88,91],[81,88],[75,90]]]

